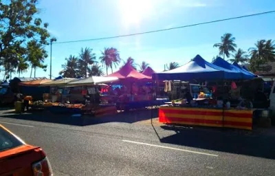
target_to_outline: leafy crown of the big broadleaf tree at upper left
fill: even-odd
[[[5,72],[15,72],[19,60],[28,56],[28,42],[36,41],[42,46],[48,44],[48,23],[42,23],[38,18],[37,3],[37,0],[6,0],[0,3],[0,63]],[[44,49],[40,47],[39,50]]]

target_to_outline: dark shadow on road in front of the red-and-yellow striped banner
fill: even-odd
[[[232,129],[178,129],[162,126],[173,130],[175,135],[160,139],[160,142],[203,148],[211,151],[250,155],[275,159],[275,135],[253,134],[250,131]]]

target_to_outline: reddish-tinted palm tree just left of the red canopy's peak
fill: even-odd
[[[111,68],[111,72],[113,73],[113,67],[116,67],[120,63],[120,54],[113,47],[105,47],[99,59],[102,65],[106,67],[106,74],[108,75],[108,68]]]

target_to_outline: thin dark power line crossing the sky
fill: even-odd
[[[254,17],[254,16],[258,16],[258,15],[262,15],[262,14],[270,14],[270,13],[274,13],[274,12],[275,12],[275,10],[272,10],[272,11],[268,11],[268,12],[248,14],[248,15],[243,15],[243,16],[239,16],[239,17],[232,17],[232,18],[228,18],[228,19],[218,19],[218,20],[207,21],[207,22],[203,22],[203,23],[195,23],[195,24],[191,24],[191,25],[182,25],[182,26],[178,26],[178,27],[174,27],[174,28],[166,28],[166,29],[162,29],[162,30],[151,30],[151,31],[147,31],[147,32],[138,32],[138,33],[134,33],[134,34],[125,34],[125,35],[119,35],[119,36],[107,36],[107,37],[101,37],[101,38],[95,38],[95,39],[84,39],[84,40],[78,40],[78,41],[61,41],[61,42],[56,42],[56,43],[53,43],[53,44],[76,43],[76,42],[83,42],[83,41],[99,41],[99,40],[115,39],[115,38],[126,37],[126,36],[136,36],[136,35],[150,34],[150,33],[155,33],[155,32],[164,32],[164,31],[167,31],[167,30],[177,30],[177,29],[180,29],[180,28],[188,28],[188,27],[192,27],[192,26],[195,26],[195,25],[205,25],[205,24],[209,24],[209,23],[217,23],[217,22],[229,21],[229,20],[233,20],[233,19],[242,19],[242,18]]]

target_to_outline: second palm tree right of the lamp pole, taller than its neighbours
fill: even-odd
[[[87,78],[89,65],[92,65],[96,62],[96,54],[94,54],[92,51],[93,50],[91,48],[85,47],[85,49],[81,48],[81,52],[79,54],[80,59],[78,59],[78,67],[81,76],[84,78]]]

